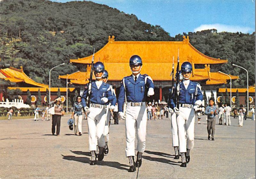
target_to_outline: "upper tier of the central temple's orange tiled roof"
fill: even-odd
[[[128,63],[132,55],[139,55],[144,63],[164,62],[177,63],[178,49],[180,63],[185,61],[195,64],[221,64],[228,60],[212,58],[204,55],[194,48],[188,37],[183,37],[183,41],[115,41],[114,36],[108,39],[108,43],[94,54],[95,62],[105,63]],[[92,63],[92,55],[84,58],[70,59],[70,63]]]

